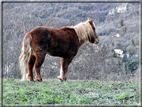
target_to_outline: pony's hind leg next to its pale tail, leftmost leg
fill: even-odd
[[[33,66],[35,64],[35,56],[33,55],[33,51],[30,53],[29,61],[28,61],[28,74],[27,74],[27,79],[30,81],[33,81]]]

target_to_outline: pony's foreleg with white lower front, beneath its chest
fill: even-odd
[[[60,69],[60,75],[58,76],[58,79],[60,81],[66,81],[66,73],[68,71],[68,66],[71,63],[73,57],[68,57],[68,58],[61,58],[61,69]]]

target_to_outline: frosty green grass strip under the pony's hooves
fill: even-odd
[[[102,82],[57,79],[29,82],[14,79],[3,80],[3,104],[39,105],[94,104],[94,105],[138,105],[140,90],[137,83]]]

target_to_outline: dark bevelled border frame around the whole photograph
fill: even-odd
[[[83,1],[83,0],[49,0],[49,1],[31,1],[31,0],[21,0],[21,1],[1,1],[1,106],[3,107],[3,3],[139,3],[140,4],[140,46],[139,46],[139,51],[140,51],[140,70],[142,71],[142,0],[136,0],[136,1],[132,1],[132,0],[120,0],[120,1],[115,1],[115,0],[91,0],[91,1]],[[142,73],[140,72],[140,81],[142,82]],[[140,82],[140,90],[142,92],[142,86]],[[141,93],[142,94],[142,93]],[[142,95],[140,97],[140,101],[142,101]],[[141,106],[141,102],[140,102],[140,106]],[[19,105],[5,105],[5,106],[19,106]],[[28,106],[28,105],[22,105],[22,106]],[[56,105],[29,105],[29,106],[56,106]],[[72,106],[72,105],[57,105],[57,106]],[[79,106],[79,105],[73,105],[73,106]],[[80,106],[96,106],[96,105],[80,105]],[[98,105],[99,106],[99,105]],[[100,106],[104,106],[104,105],[100,105]],[[108,105],[111,106],[111,105]],[[112,106],[118,106],[118,105],[112,105]],[[127,105],[122,105],[122,106],[127,106]],[[130,105],[128,105],[130,106]],[[138,106],[138,105],[132,105],[132,106]]]

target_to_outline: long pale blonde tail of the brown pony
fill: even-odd
[[[27,33],[23,40],[21,55],[19,56],[19,65],[22,74],[22,79],[21,79],[22,81],[26,79],[27,64],[31,52],[31,40],[32,40],[31,34]]]

